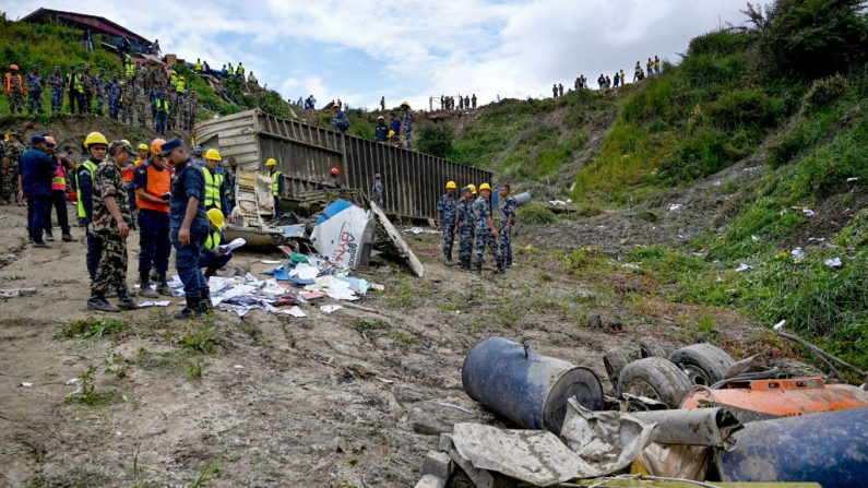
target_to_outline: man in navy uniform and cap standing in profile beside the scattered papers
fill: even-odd
[[[187,306],[175,313],[175,318],[192,319],[212,308],[207,281],[199,269],[199,254],[210,229],[204,203],[205,178],[202,169],[190,160],[180,139],[166,141],[160,154],[168,157],[176,174],[171,185],[169,225],[175,246],[175,267],[183,283]]]

